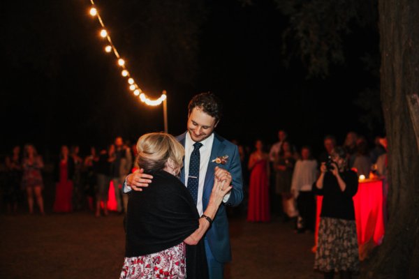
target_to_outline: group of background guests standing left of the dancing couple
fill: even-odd
[[[96,149],[91,147],[89,154],[80,156],[80,147],[62,145],[59,156],[54,160],[54,213],[68,213],[89,209],[95,216],[108,215],[108,192],[112,181],[115,189],[117,212],[124,213],[128,197],[122,195],[122,185],[128,173],[133,170],[135,148],[117,137],[113,144]],[[35,146],[26,144],[23,152],[14,146],[5,159],[5,180],[1,193],[8,213],[17,213],[24,197],[27,199],[29,213],[38,211],[45,214],[43,189],[44,163]]]

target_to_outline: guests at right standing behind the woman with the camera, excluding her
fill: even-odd
[[[295,220],[296,232],[314,232],[313,185],[321,175],[322,163],[332,160],[338,147],[336,137],[325,135],[323,150],[316,158],[311,146],[297,149],[285,130],[279,130],[278,142],[270,146],[260,139],[254,142],[253,150],[238,145],[247,184],[247,220],[269,222],[275,215],[284,222]],[[345,151],[346,167],[358,177],[386,176],[385,137],[376,137],[374,146],[369,146],[366,137],[350,131],[339,146]]]

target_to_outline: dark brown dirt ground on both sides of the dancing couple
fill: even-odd
[[[87,211],[0,215],[0,278],[119,278],[124,259],[123,216]],[[233,262],[225,278],[323,278],[313,271],[314,235],[295,234],[274,219],[230,217]],[[356,277],[355,277],[356,278]]]

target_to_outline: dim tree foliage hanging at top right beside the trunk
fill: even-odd
[[[284,52],[300,56],[309,77],[329,75],[346,60],[344,36],[356,27],[376,28],[376,1],[274,0],[288,16]],[[362,43],[362,42],[360,42]]]

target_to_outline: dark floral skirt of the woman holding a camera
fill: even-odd
[[[355,220],[321,218],[314,269],[323,272],[360,270]]]

